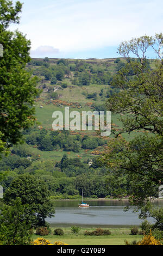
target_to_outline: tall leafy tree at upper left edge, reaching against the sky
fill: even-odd
[[[30,41],[21,32],[10,32],[10,23],[18,23],[22,4],[3,0],[0,3],[0,145],[1,151],[20,142],[21,129],[34,124],[34,99],[37,95],[36,78],[24,68],[29,62]]]

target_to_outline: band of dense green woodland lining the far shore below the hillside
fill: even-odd
[[[55,133],[58,134],[58,132]],[[53,137],[53,135],[54,133],[52,132],[51,136]],[[80,136],[78,137],[80,138]],[[83,142],[86,142],[87,139],[88,137],[84,136]],[[24,155],[26,155],[26,150],[24,151],[24,153],[22,151],[23,155],[20,156],[21,147],[23,147],[23,149],[26,149],[28,148],[28,145],[14,147],[14,149],[12,150],[14,154],[10,154],[8,157],[3,157],[2,161],[0,162],[0,173],[5,173],[3,180],[0,182],[0,185],[3,186],[4,192],[7,192],[8,189],[12,190],[13,182],[16,182],[18,186],[17,182],[20,182],[20,180],[16,180],[21,177],[22,174],[28,174],[28,177],[32,179],[32,181],[30,182],[31,184],[33,182],[33,178],[36,180],[39,179],[41,180],[41,182],[43,182],[43,184],[46,184],[48,196],[68,198],[70,196],[77,196],[82,193],[81,187],[77,185],[77,180],[80,180],[81,175],[85,175],[84,179],[90,187],[89,191],[85,192],[86,196],[115,196],[115,189],[113,186],[110,185],[109,188],[107,188],[106,190],[105,175],[107,172],[107,168],[101,167],[99,165],[98,157],[93,157],[93,159],[87,159],[83,161],[79,159],[79,157],[68,157],[66,153],[62,156],[62,159],[59,162],[56,162],[55,158],[54,160],[52,159],[46,161],[39,161],[33,156],[31,156],[30,158],[24,157]],[[33,153],[31,153],[31,155],[33,155]],[[22,188],[20,189],[22,190]],[[36,189],[33,189],[34,191],[31,191],[32,194],[36,192]],[[86,189],[84,184],[83,189]],[[37,191],[36,193],[40,192]]]

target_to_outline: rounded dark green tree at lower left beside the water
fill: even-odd
[[[4,203],[13,206],[17,198],[22,205],[28,204],[25,215],[31,227],[46,225],[45,218],[54,216],[54,206],[48,199],[49,191],[45,180],[29,174],[19,175],[4,193]]]

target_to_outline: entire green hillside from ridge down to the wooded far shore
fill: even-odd
[[[27,70],[39,78],[40,94],[34,103],[37,123],[23,131],[25,143],[14,146],[11,155],[0,163],[0,171],[10,170],[0,184],[4,190],[18,175],[29,173],[46,182],[53,199],[76,198],[81,194],[81,186],[84,197],[114,195],[114,186],[106,188],[105,184],[106,176],[112,174],[97,161],[97,157],[107,150],[113,135],[103,137],[95,130],[55,132],[52,114],[61,111],[64,116],[64,108],[68,106],[70,112],[80,112],[82,121],[82,111],[107,111],[105,102],[119,92],[111,86],[112,78],[124,63],[123,58],[45,58],[32,59],[28,63]],[[148,64],[152,66],[153,60]],[[121,114],[111,113],[111,129],[122,129],[120,119]],[[123,136],[129,140],[139,132]],[[123,182],[125,184],[126,180]]]

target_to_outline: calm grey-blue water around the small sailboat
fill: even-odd
[[[124,212],[127,200],[93,200],[87,201],[89,208],[79,208],[78,201],[55,201],[55,217],[47,218],[51,226],[68,227],[129,227],[140,225],[142,220],[138,214],[129,210]],[[163,207],[163,200],[157,200],[154,205]],[[149,222],[154,223],[152,218]]]

